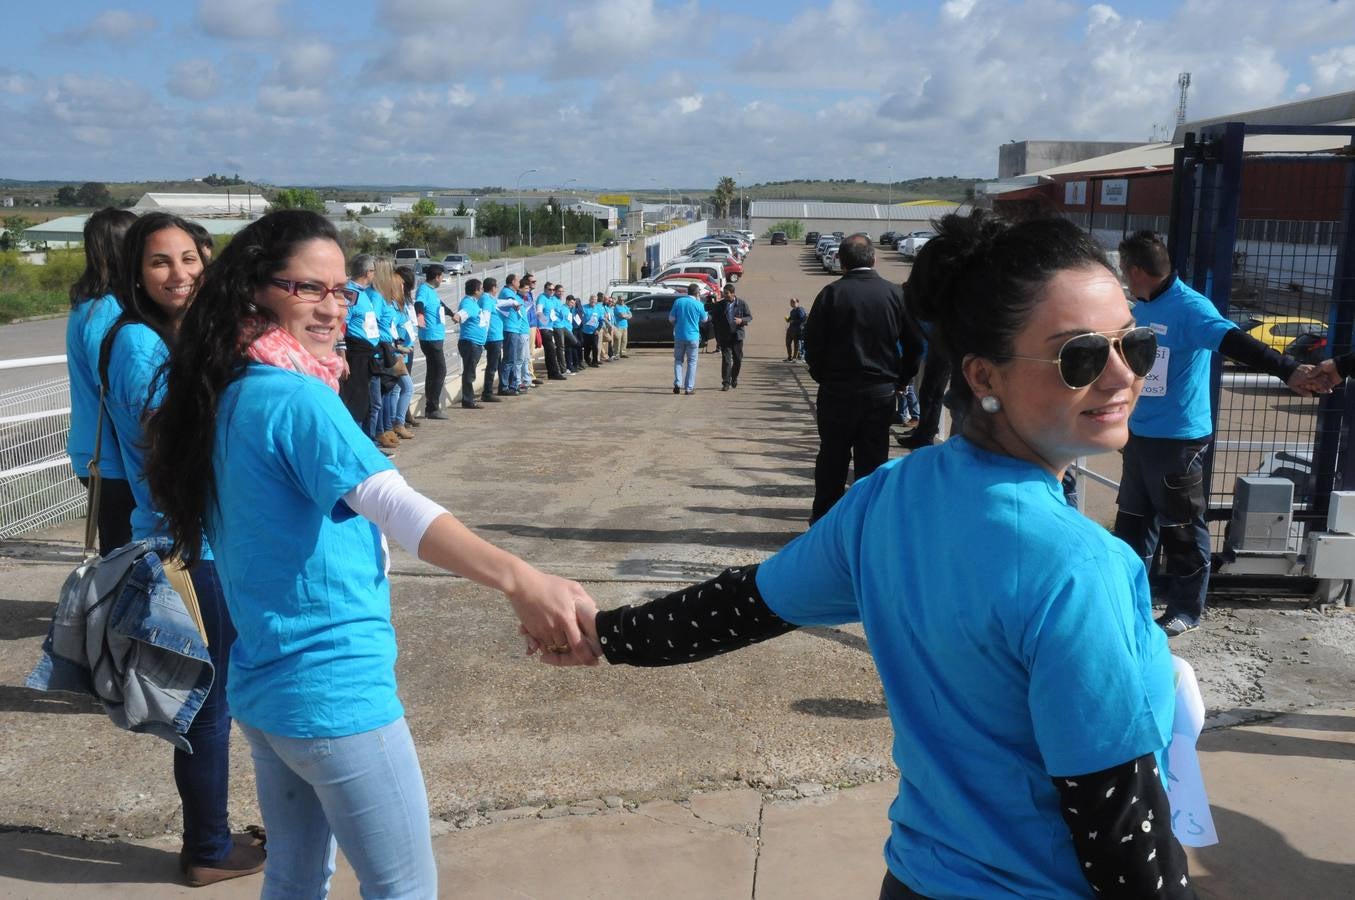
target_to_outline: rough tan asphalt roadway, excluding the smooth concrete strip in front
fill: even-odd
[[[897,256],[882,256],[882,272],[901,279]],[[749,256],[740,294],[755,320],[737,390],[720,392],[718,358],[705,355],[696,393],[673,396],[671,351],[635,348],[527,397],[453,408],[396,462],[478,534],[579,579],[604,607],[766,558],[804,531],[813,495],[813,384],[783,362],[783,310],[829,277],[804,259],[798,245],[763,243]],[[117,732],[79,698],[20,687],[79,539],[66,526],[0,542],[0,825],[175,834],[168,747]],[[955,553],[978,558],[974,548]],[[805,629],[690,667],[557,671],[522,656],[493,592],[400,550],[392,584],[401,697],[444,823],[545,801],[893,773],[888,710],[855,626]],[[1195,666],[1211,713],[1236,722],[1346,703],[1352,626],[1293,603],[1221,605],[1173,651]],[[259,821],[238,737],[232,819]]]

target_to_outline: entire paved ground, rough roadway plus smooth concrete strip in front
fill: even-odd
[[[797,245],[753,251],[734,392],[718,390],[718,358],[705,355],[698,393],[673,397],[671,351],[635,348],[524,398],[454,408],[396,459],[602,606],[760,560],[808,515],[813,385],[780,362],[782,316],[827,281]],[[187,893],[164,886],[178,850],[168,748],[20,687],[77,544],[75,527],[0,544],[0,897]],[[522,659],[492,592],[401,552],[392,576],[444,896],[875,896],[893,770],[859,629],[806,629],[684,668],[556,671]],[[1341,840],[1352,647],[1355,617],[1293,603],[1221,606],[1177,642],[1220,727],[1205,771],[1225,844],[1196,857],[1209,896],[1346,896],[1329,889],[1355,866]],[[240,740],[230,808],[245,824],[259,816]],[[627,806],[606,812],[606,798]],[[1279,876],[1304,889],[1280,891]]]

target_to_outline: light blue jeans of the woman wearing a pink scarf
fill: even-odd
[[[428,794],[404,718],[344,737],[241,727],[268,831],[263,900],[328,896],[336,847],[363,897],[438,896]]]

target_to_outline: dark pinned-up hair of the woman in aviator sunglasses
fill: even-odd
[[[1049,281],[1089,266],[1114,274],[1100,245],[1065,218],[1011,225],[986,210],[942,218],[917,252],[906,293],[909,312],[951,362],[946,405],[963,413],[974,400],[961,371],[965,356],[1011,355]]]

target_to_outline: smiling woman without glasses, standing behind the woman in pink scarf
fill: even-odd
[[[127,229],[122,251],[118,301],[122,314],[108,329],[95,361],[107,385],[114,451],[131,484],[136,508],[131,537],[168,537],[164,514],[145,477],[145,416],[163,396],[161,365],[179,340],[179,327],[191,308],[203,272],[203,248],[190,224],[178,216],[148,213]],[[104,455],[104,454],[102,454]],[[182,481],[196,477],[179,469]],[[184,534],[192,544],[188,576],[198,595],[207,652],[215,670],[211,690],[184,737],[192,752],[173,751],[173,778],[183,802],[183,850],[179,867],[188,884],[201,886],[263,869],[264,851],[251,835],[232,836],[226,816],[230,764],[230,713],[226,708],[226,659],[236,630],[221,595],[211,549],[202,530]]]

